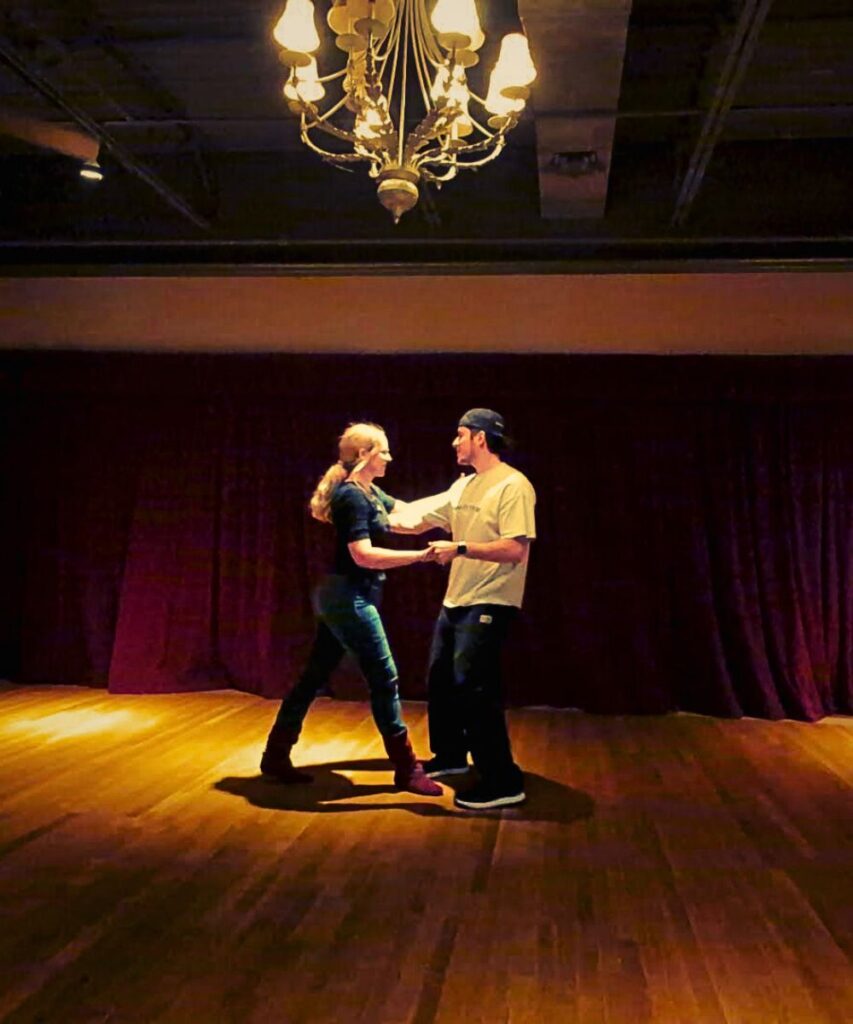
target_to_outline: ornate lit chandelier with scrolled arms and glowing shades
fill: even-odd
[[[525,36],[504,37],[482,97],[468,83],[485,41],[475,0],[435,0],[431,17],[427,0],[332,0],[327,22],[347,56],[345,67],[321,76],[314,5],[287,0],[272,33],[290,69],[285,98],[308,148],[344,170],[369,165],[394,223],[418,202],[419,182],[440,188],[501,154],[536,78]],[[322,113],[317,103],[333,83],[339,95]]]

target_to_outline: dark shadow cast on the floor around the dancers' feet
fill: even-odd
[[[447,797],[454,792],[462,792],[476,778],[473,770],[468,775],[454,775],[438,781],[450,791],[440,798],[417,797],[400,793],[390,783],[390,769],[383,760],[336,761],[324,765],[300,765],[313,775],[313,782],[302,785],[287,785],[264,775],[229,775],[213,784],[214,790],[243,797],[254,807],[266,810],[301,811],[311,814],[339,814],[353,811],[404,810],[424,817],[502,817],[507,821],[551,821],[570,824],[592,815],[595,803],[592,798],[562,782],[545,778],[532,772],[524,773],[524,792],[527,800],[515,807],[489,811],[469,811],[447,806]],[[349,778],[349,772],[377,772],[381,781],[366,782]],[[347,773],[347,774],[345,774]],[[398,798],[373,802],[364,800],[372,796],[393,793]]]

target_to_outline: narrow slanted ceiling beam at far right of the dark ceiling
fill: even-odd
[[[745,0],[740,10],[711,105],[699,126],[687,170],[678,188],[672,216],[675,226],[683,224],[687,219],[772,4],[773,0]]]

